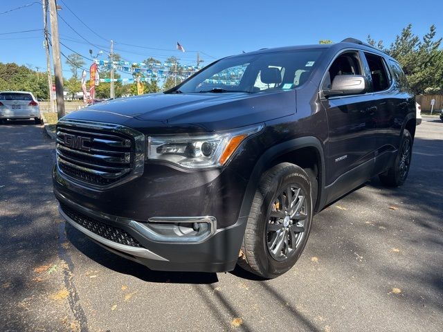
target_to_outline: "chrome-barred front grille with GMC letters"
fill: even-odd
[[[57,166],[70,180],[111,187],[143,173],[144,136],[116,124],[61,120]]]

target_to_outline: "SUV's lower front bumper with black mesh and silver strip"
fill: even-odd
[[[141,222],[83,208],[57,192],[55,196],[60,214],[74,228],[107,250],[152,270],[224,272],[237,263],[246,218],[214,229],[203,241],[159,242],[150,239]]]

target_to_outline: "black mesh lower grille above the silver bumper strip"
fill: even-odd
[[[141,243],[139,243],[134,237],[132,237],[131,234],[121,228],[102,223],[101,221],[93,219],[86,214],[77,212],[64,204],[60,204],[60,208],[62,208],[64,214],[66,214],[66,216],[69,216],[69,218],[75,221],[75,223],[78,223],[78,225],[82,226],[83,228],[86,228],[90,232],[97,234],[99,237],[119,244],[123,244],[124,246],[144,248]]]

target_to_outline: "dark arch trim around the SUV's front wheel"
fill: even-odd
[[[301,153],[307,153],[308,158],[300,157]],[[260,156],[251,172],[246,192],[243,197],[242,207],[240,208],[239,218],[247,218],[262,174],[274,165],[284,162],[294,163],[302,168],[311,168],[310,166],[313,165],[313,163],[316,165],[315,172],[318,176],[318,195],[314,210],[318,211],[323,208],[326,199],[324,191],[325,157],[323,153],[323,145],[318,138],[307,136],[294,138],[293,140],[274,145]],[[299,163],[302,165],[299,165]]]

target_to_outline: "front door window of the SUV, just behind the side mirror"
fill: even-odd
[[[326,73],[323,89],[331,89],[337,75],[362,75],[361,62],[357,52],[345,52],[332,62]]]

